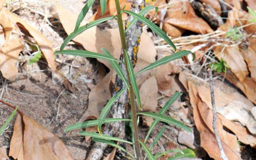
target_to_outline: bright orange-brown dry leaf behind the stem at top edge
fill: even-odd
[[[120,3],[121,9],[124,6],[125,6],[125,10],[129,11],[131,9],[131,3],[127,2],[127,0],[119,0],[119,3]],[[108,0],[105,14],[102,16],[101,8],[99,6],[97,8],[97,11],[95,12],[95,14],[93,14],[93,17],[90,18],[89,22],[93,21],[93,20],[98,20],[103,17],[109,17],[111,15],[116,15],[116,14],[117,14],[117,12],[116,12],[115,0]]]

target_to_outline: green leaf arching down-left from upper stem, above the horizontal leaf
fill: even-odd
[[[93,22],[88,23],[87,25],[83,25],[81,27],[79,27],[77,29],[77,31],[72,32],[69,36],[67,36],[67,38],[65,38],[64,42],[61,44],[61,48],[60,50],[63,51],[64,47],[68,44],[68,42],[70,42],[73,38],[75,38],[77,35],[83,33],[84,31],[86,31],[89,28],[92,28],[96,25],[99,25],[102,22],[105,22],[107,20],[111,20],[115,17],[111,16],[111,17],[105,17],[99,20],[95,20]]]

